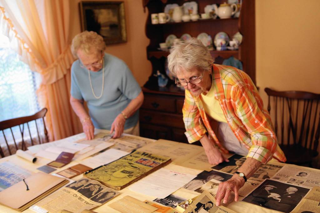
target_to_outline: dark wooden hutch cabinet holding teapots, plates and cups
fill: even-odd
[[[208,4],[222,4],[226,0],[194,0],[198,4],[198,13],[204,13]],[[236,32],[243,35],[238,50],[210,51],[215,63],[222,64],[224,59],[231,56],[239,59],[243,70],[255,83],[255,1],[243,0],[239,18],[205,19],[189,22],[168,22],[165,24],[151,24],[151,14],[164,11],[166,4],[182,5],[186,0],[143,0],[143,7],[148,8],[146,35],[150,39],[147,47],[147,57],[152,63],[152,75],[143,89],[144,103],[140,109],[140,135],[153,139],[167,139],[187,142],[184,135],[185,128],[182,120],[182,106],[184,91],[176,87],[169,80],[166,87],[158,87],[156,72],[165,73],[165,61],[169,52],[159,51],[159,43],[165,42],[166,37],[174,34],[177,38],[188,33],[197,37],[200,33],[211,35],[212,40],[218,32],[226,32],[230,38]]]

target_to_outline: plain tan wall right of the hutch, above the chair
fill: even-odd
[[[257,86],[320,93],[319,0],[256,0]]]

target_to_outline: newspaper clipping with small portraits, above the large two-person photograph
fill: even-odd
[[[297,186],[319,187],[319,170],[307,169],[294,165],[285,165],[272,179],[281,180]]]

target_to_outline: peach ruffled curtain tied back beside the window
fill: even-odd
[[[30,69],[39,72],[37,91],[48,109],[46,126],[50,140],[82,131],[70,104],[70,51],[68,0],[0,0],[0,28],[11,47]]]

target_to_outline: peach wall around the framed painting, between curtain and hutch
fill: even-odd
[[[115,1],[115,0],[113,0]],[[117,1],[117,0],[116,0]],[[123,0],[127,29],[127,42],[108,45],[106,52],[121,58],[131,69],[138,83],[143,84],[151,75],[151,63],[147,60],[146,48],[149,39],[145,34],[145,23],[148,10],[143,12],[142,0]],[[71,37],[81,32],[78,3],[80,0],[70,0]]]

